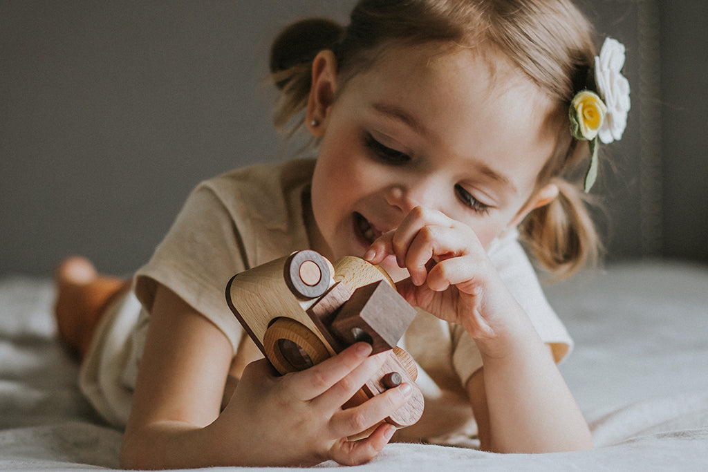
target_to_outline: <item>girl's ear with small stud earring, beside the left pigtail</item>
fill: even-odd
[[[316,138],[324,135],[336,87],[337,59],[329,50],[320,51],[312,61],[312,86],[305,115],[305,125]]]

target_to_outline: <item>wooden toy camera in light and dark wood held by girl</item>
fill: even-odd
[[[396,346],[416,311],[381,267],[354,257],[332,265],[316,251],[297,251],[234,275],[226,299],[283,375],[312,367],[360,340],[370,343],[372,355],[386,356],[384,364],[343,408],[407,382],[411,398],[386,421],[406,427],[421,418],[416,364]]]

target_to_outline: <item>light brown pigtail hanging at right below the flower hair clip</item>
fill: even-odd
[[[521,238],[537,263],[556,280],[594,265],[600,254],[600,238],[588,203],[590,197],[578,185],[554,179],[559,195],[530,212],[520,225]]]

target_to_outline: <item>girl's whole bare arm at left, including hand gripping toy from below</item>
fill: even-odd
[[[379,368],[382,357],[358,343],[303,372],[275,376],[267,361],[246,367],[219,414],[233,357],[226,336],[165,287],[156,292],[121,464],[126,468],[360,464],[395,428],[347,437],[376,425],[407,399],[401,385],[341,410]]]

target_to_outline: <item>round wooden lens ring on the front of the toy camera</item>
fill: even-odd
[[[282,375],[307,369],[330,357],[324,343],[292,318],[276,318],[268,326],[263,348],[265,357]]]

